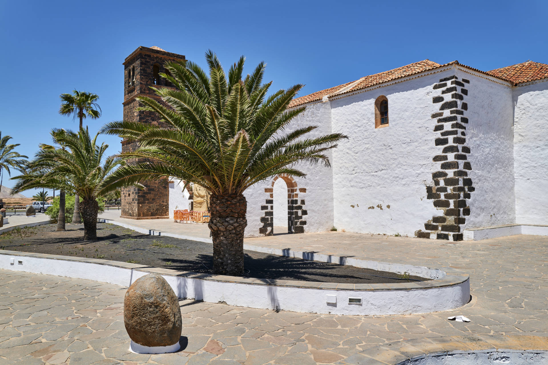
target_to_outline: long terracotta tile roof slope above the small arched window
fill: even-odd
[[[325,95],[333,94],[337,91],[339,92],[353,91],[353,90],[368,88],[369,86],[373,86],[376,84],[388,82],[390,80],[410,76],[415,73],[428,71],[429,69],[438,68],[440,66],[442,65],[439,65],[439,63],[436,63],[430,60],[423,60],[423,61],[411,63],[410,65],[406,65],[403,67],[391,69],[390,71],[375,73],[374,75],[362,77],[361,79],[358,79],[346,84],[342,84],[339,86],[335,86],[334,88],[320,90],[320,91],[313,92],[310,95],[297,97],[293,99],[293,101],[289,104],[289,108],[293,108],[301,104],[309,103],[311,101],[321,100]],[[356,83],[356,84],[347,90],[343,90],[347,88],[347,86],[353,83]]]

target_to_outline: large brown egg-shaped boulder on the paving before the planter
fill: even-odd
[[[129,338],[141,346],[179,343],[182,329],[179,301],[161,275],[142,276],[125,292],[124,324]]]

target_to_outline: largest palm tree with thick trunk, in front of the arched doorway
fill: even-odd
[[[214,272],[242,275],[247,225],[244,191],[279,173],[305,176],[298,163],[329,166],[326,150],[346,136],[306,138],[315,126],[284,133],[290,121],[305,110],[288,109],[302,85],[267,96],[271,82],[262,84],[264,62],[242,78],[243,56],[228,74],[212,51],[206,53],[206,60],[209,76],[190,61],[165,65],[170,75],[162,77],[175,89],[154,89],[167,106],[138,97],[141,110],[157,113],[165,126],[124,120],[101,129],[102,133],[138,140],[141,146],[121,154],[128,165],[114,172],[107,183],[118,187],[175,177],[207,189],[211,194]]]

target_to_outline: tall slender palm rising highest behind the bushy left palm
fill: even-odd
[[[76,117],[80,120],[80,128],[83,128],[83,120],[86,117],[97,119],[101,116],[101,107],[97,100],[99,95],[92,94],[91,92],[73,90],[72,94],[61,94],[61,107],[59,108],[59,114],[72,115],[72,119]],[[99,109],[99,110],[97,110]],[[80,197],[75,196],[74,200],[74,215],[72,216],[72,223],[80,223],[82,218],[80,216]]]

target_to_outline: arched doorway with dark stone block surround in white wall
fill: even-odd
[[[281,184],[281,182],[278,182],[280,185],[276,187],[276,195],[278,195],[279,200],[276,199],[277,202],[275,203],[275,186],[278,179],[281,179],[286,183],[287,210],[284,210],[282,207],[283,184]],[[283,222],[282,212],[287,211],[287,233],[304,233],[307,218],[306,216],[308,215],[305,208],[304,199],[306,188],[297,188],[295,179],[285,173],[282,173],[272,179],[271,188],[265,188],[265,193],[267,193],[267,196],[265,197],[265,205],[261,205],[261,211],[264,212],[264,215],[261,217],[262,227],[259,228],[259,233],[265,236],[271,236],[275,233],[273,228],[275,223],[274,215],[276,204],[279,206],[279,215],[277,215],[276,223],[281,224],[281,222]],[[283,233],[281,228],[279,229],[280,231],[276,231],[276,233]]]

